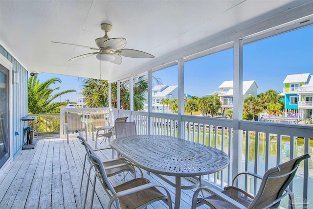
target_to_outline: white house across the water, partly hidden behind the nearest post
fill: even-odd
[[[221,108],[224,112],[227,108],[233,108],[233,81],[224,81],[217,92],[221,99]],[[248,96],[256,96],[257,88],[255,81],[243,81],[243,100]]]

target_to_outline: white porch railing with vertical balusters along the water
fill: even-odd
[[[99,110],[109,111],[107,108],[100,108]],[[66,111],[72,112],[75,109],[67,109]],[[94,111],[94,109],[89,108],[85,111]],[[64,113],[65,111],[62,112]],[[178,131],[182,130],[180,134],[182,139],[216,147],[226,152],[232,159],[232,119],[179,116],[178,114],[117,109],[111,109],[109,115],[115,116],[114,118],[117,116],[128,116],[128,121],[136,122],[138,134],[177,137],[179,136]],[[242,163],[245,171],[263,175],[268,168],[286,162],[296,156],[309,153],[313,157],[313,126],[239,121],[239,129],[243,130],[244,133],[242,162],[240,163]],[[203,185],[222,188],[230,184],[233,178],[233,163],[231,160],[229,166],[223,171],[203,176]],[[254,179],[242,179],[240,184],[246,191],[255,194],[260,182]],[[304,200],[313,201],[313,191],[308,190],[308,185],[313,185],[312,159],[305,160],[304,163],[300,164],[297,176],[290,187],[295,192],[295,195],[303,197]],[[287,200],[283,200],[281,205],[287,207],[287,204]]]

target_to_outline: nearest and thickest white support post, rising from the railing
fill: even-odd
[[[239,121],[243,119],[243,42],[234,41],[234,75],[233,75],[233,151],[232,178],[242,171],[243,130]],[[232,179],[231,178],[231,179]]]

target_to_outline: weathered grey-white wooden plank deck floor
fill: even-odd
[[[88,142],[94,147],[91,137]],[[108,144],[104,142],[101,146]],[[81,197],[84,197],[86,191],[86,172],[82,193],[79,187],[85,153],[76,135],[71,137],[68,144],[59,136],[40,137],[35,149],[22,150],[13,163],[8,163],[0,170],[0,209],[82,209]],[[111,153],[111,151],[102,152],[101,158],[111,159]],[[172,201],[175,200],[173,186],[153,174],[149,176],[145,172],[144,176],[151,182],[159,182],[170,189]],[[122,183],[122,178],[123,175],[114,176],[110,181],[113,185],[118,185]],[[126,181],[131,179],[133,177],[127,175]],[[175,182],[174,178],[172,180]],[[193,192],[194,189],[182,190],[181,209],[191,208]],[[91,186],[88,194],[86,208],[89,208]],[[96,185],[93,208],[106,209],[108,202],[109,197],[103,188]],[[156,202],[148,207],[148,209],[163,208],[167,208],[163,202]]]

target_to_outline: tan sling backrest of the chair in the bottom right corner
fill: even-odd
[[[309,154],[268,169],[263,176],[258,193],[255,195],[248,208],[261,209],[281,197],[296,174],[299,163],[307,158],[310,158]],[[277,208],[279,203],[280,202],[276,203],[271,208]]]

